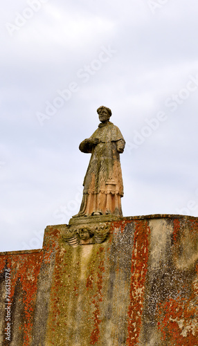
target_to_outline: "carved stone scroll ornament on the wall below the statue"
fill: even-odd
[[[62,239],[73,248],[78,245],[101,244],[107,239],[109,229],[109,225],[96,224],[67,226],[62,230]]]

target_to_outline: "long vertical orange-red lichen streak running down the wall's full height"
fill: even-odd
[[[150,235],[150,228],[147,225],[147,221],[136,221],[135,226],[130,304],[128,311],[128,346],[138,345],[138,336],[141,331],[141,315],[143,311],[143,296],[148,260],[148,237]]]

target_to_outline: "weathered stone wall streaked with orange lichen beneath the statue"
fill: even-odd
[[[48,226],[42,250],[0,254],[1,345],[198,345],[198,219],[105,224],[102,244]]]

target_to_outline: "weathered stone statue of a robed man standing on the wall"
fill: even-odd
[[[79,146],[81,152],[91,153],[91,159],[84,177],[80,211],[73,217],[107,214],[122,217],[120,154],[124,151],[125,140],[118,127],[109,121],[111,109],[101,106],[97,112],[98,129]]]

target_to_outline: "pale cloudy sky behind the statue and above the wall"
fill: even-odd
[[[123,215],[198,215],[197,17],[195,0],[3,2],[0,251],[78,212],[101,105],[126,140]]]

